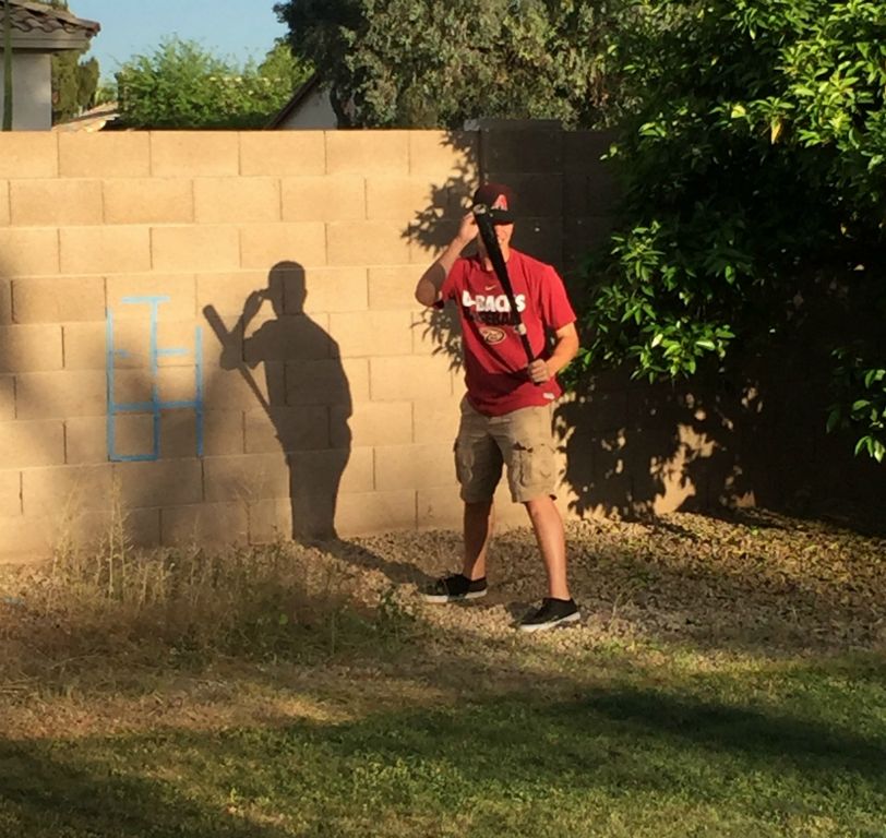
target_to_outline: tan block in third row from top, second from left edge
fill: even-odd
[[[122,274],[151,270],[147,227],[67,227],[59,230],[64,274]]]

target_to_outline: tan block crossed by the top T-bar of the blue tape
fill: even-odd
[[[190,321],[196,313],[194,274],[118,274],[107,278],[107,295],[115,323],[123,320],[147,322],[151,316],[147,303],[123,302],[127,298],[168,298],[157,303],[157,319],[161,323]],[[193,328],[190,332],[193,334]]]

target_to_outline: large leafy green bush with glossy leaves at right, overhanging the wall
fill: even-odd
[[[655,0],[612,56],[638,106],[584,366],[692,375],[802,334],[833,350],[828,427],[883,460],[886,7]]]

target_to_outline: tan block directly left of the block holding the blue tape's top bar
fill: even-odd
[[[100,276],[14,279],[16,323],[65,323],[105,319],[105,280]]]

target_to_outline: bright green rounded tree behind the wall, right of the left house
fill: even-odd
[[[277,45],[240,68],[192,40],[168,38],[117,73],[122,121],[133,128],[262,128],[310,71]]]

